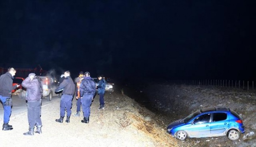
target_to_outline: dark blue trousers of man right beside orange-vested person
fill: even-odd
[[[90,105],[92,103],[93,95],[83,95],[81,99],[83,108],[83,117],[88,118],[90,116]]]

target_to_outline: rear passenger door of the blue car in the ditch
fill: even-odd
[[[227,113],[213,113],[213,121],[211,123],[211,134],[224,133],[229,124]]]

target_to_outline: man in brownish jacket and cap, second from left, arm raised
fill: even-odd
[[[41,121],[41,102],[42,102],[42,83],[41,80],[34,73],[30,73],[29,76],[22,82],[22,86],[26,90],[26,100],[28,106],[28,120],[29,131],[23,133],[24,135],[34,135],[34,127],[36,125],[35,133],[42,133],[42,121]]]

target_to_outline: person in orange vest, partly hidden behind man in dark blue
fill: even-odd
[[[76,82],[76,114],[74,116],[80,116],[81,110],[81,98],[80,98],[80,84],[82,79],[84,78],[83,72],[79,73],[79,76],[75,79]]]

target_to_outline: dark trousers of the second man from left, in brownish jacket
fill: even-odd
[[[42,125],[41,120],[41,102],[42,99],[38,101],[28,101],[28,120],[29,128],[34,128],[36,126]]]

